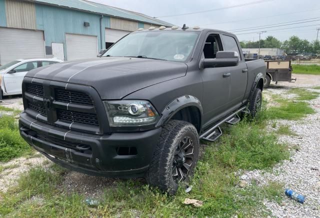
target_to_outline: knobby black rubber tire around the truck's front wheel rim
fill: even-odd
[[[175,194],[178,188],[178,183],[175,182],[172,173],[174,164],[176,163],[176,150],[178,146],[181,146],[181,140],[185,138],[191,138],[190,141],[193,144],[192,164],[186,178],[183,180],[183,182],[187,182],[193,175],[193,169],[198,159],[199,138],[194,125],[186,121],[170,120],[162,127],[147,172],[146,180],[149,184],[157,186],[172,195]],[[175,161],[174,164],[173,161]]]

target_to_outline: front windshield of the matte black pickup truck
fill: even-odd
[[[128,34],[102,56],[130,56],[171,61],[185,61],[199,32],[147,31]]]

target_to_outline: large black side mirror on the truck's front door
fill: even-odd
[[[239,54],[236,51],[218,51],[215,58],[205,58],[200,62],[201,68],[236,66],[239,63]]]

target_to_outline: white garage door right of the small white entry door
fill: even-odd
[[[97,37],[93,35],[65,34],[67,60],[96,57]]]

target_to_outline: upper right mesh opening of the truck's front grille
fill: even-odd
[[[78,91],[69,91],[62,88],[54,90],[55,100],[67,103],[93,105],[89,95]]]

